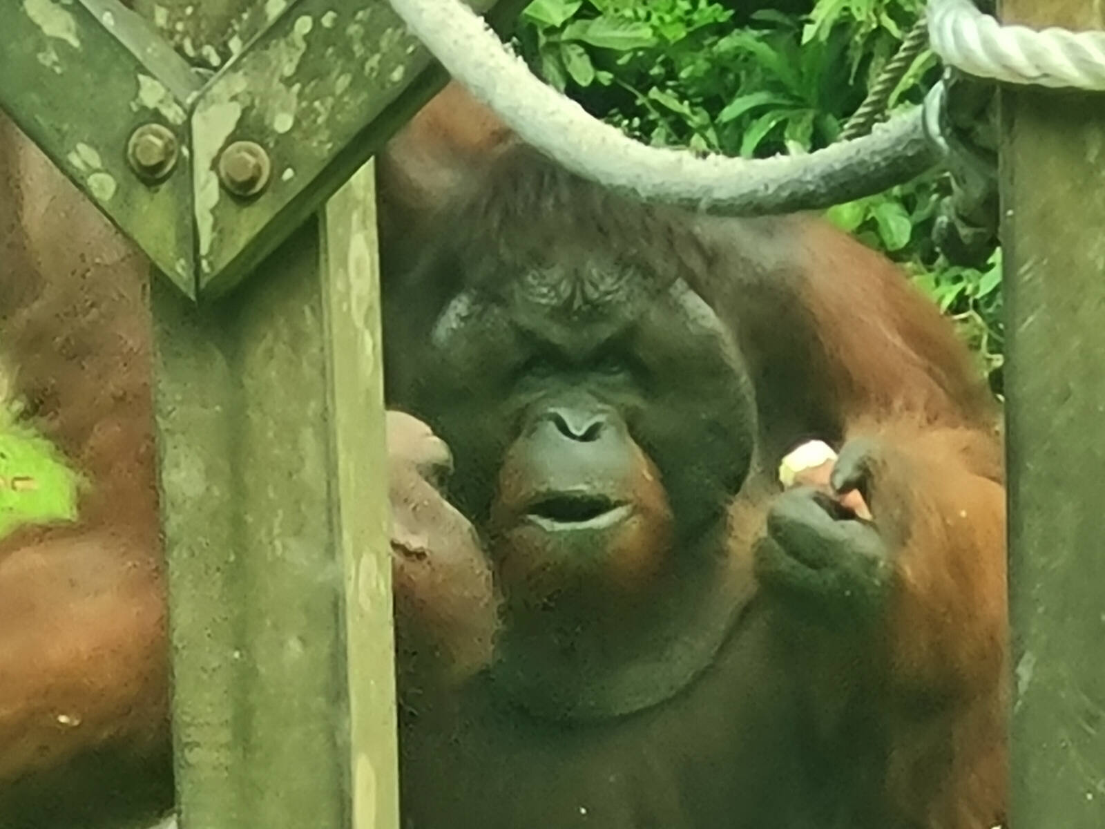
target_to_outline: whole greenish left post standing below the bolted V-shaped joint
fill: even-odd
[[[155,283],[186,829],[398,826],[370,170],[322,228],[213,306]]]

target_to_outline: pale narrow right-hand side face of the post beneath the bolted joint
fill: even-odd
[[[390,510],[376,179],[369,162],[326,204],[330,410],[345,573],[354,829],[399,826]]]

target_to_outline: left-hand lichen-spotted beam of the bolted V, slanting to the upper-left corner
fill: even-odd
[[[0,106],[146,252],[194,293],[188,99],[200,80],[137,15],[109,0],[0,2]],[[136,127],[181,145],[169,178],[146,186],[127,164]]]

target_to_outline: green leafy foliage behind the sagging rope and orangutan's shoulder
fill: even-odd
[[[522,54],[593,115],[654,146],[765,157],[831,144],[897,51],[924,0],[818,0],[806,17],[761,10],[738,27],[714,0],[534,0]],[[891,107],[913,106],[939,76],[928,51]],[[932,174],[829,218],[903,264],[961,326],[1001,388],[1000,269],[950,266],[930,238],[949,191]]]

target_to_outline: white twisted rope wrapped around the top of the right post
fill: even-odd
[[[1105,32],[1001,25],[971,0],[928,0],[933,51],[968,75],[1011,84],[1105,91]]]

